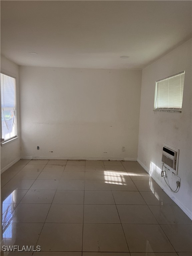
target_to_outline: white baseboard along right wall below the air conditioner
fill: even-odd
[[[149,173],[149,169],[139,160],[137,159],[137,162],[145,169],[146,172]],[[184,211],[185,214],[192,220],[192,212],[185,207],[180,200],[175,198],[174,194],[167,188],[165,185],[158,180],[154,175],[151,175],[151,177],[157,182],[157,184],[165,191],[165,193],[181,208],[182,211]]]

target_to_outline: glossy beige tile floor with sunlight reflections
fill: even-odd
[[[1,175],[17,256],[192,256],[192,221],[137,162],[20,160]]]

